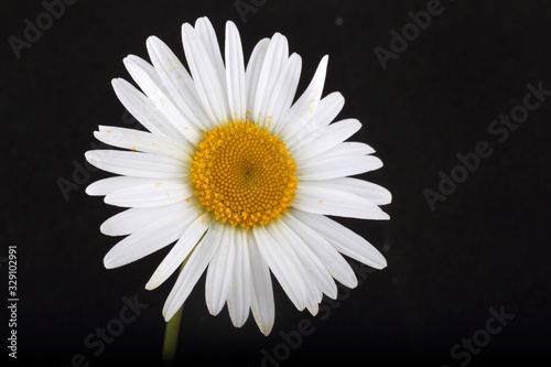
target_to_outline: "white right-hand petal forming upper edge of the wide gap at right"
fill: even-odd
[[[324,181],[300,181],[293,207],[315,214],[361,219],[389,219],[372,202],[344,191],[329,188]]]

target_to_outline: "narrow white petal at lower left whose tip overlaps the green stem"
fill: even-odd
[[[220,227],[222,226],[218,226],[216,223],[210,226],[210,229],[206,234],[205,238],[197,245],[193,253],[190,256],[190,259],[182,269],[176,283],[172,288],[172,291],[164,303],[164,320],[169,321],[172,319],[172,316],[187,299],[187,295],[190,295],[203,271],[205,271],[208,262],[223,240]]]

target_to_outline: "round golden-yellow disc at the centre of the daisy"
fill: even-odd
[[[235,121],[210,129],[191,162],[195,196],[216,219],[245,229],[273,223],[295,196],[296,163],[277,136]]]

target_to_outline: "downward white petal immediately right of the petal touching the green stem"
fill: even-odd
[[[205,299],[212,315],[217,315],[227,300],[236,253],[235,240],[227,235],[229,228],[225,227],[222,230],[225,230],[224,240],[208,265],[205,281]]]

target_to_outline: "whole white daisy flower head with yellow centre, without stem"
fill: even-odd
[[[88,162],[117,176],[89,185],[110,205],[128,208],[100,227],[127,236],[106,255],[106,268],[143,258],[175,241],[147,283],[152,290],[185,261],[164,304],[170,320],[206,270],[206,303],[216,315],[227,304],[241,326],[249,310],[268,335],[274,321],[270,272],[299,310],[316,314],[335,280],[354,288],[342,255],[381,269],[381,253],[326,217],[388,219],[379,205],[390,193],[348,177],[382,162],[360,142],[345,142],[361,127],[332,122],[344,105],[322,98],[327,56],[294,100],[301,57],[289,55],[276,33],[255,46],[247,64],[236,25],[226,24],[224,57],[207,18],[182,26],[185,58],[158,37],[147,47],[152,65],[130,55],[138,84],[112,80],[122,105],[149,132],[100,126],[98,140],[123,150],[94,150]],[[293,102],[294,100],[294,102]]]

